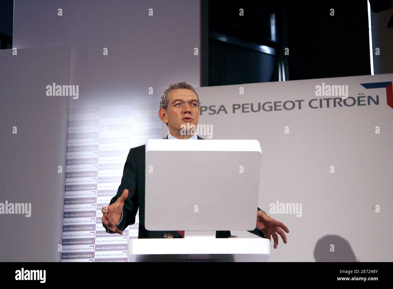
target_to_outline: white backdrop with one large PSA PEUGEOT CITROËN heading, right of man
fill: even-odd
[[[392,127],[393,109],[386,88],[366,89],[360,83],[391,82],[393,74],[309,79],[196,88],[202,102],[200,124],[213,125],[213,139],[256,139],[263,151],[258,206],[301,204],[301,216],[268,214],[288,226],[288,243],[279,238],[269,261],[392,261]],[[309,107],[316,85],[348,85],[351,105]],[[243,87],[244,94],[239,94]],[[360,95],[359,95],[360,94]],[[362,95],[363,94],[363,95]],[[370,96],[379,104],[376,105]],[[358,96],[360,105],[358,106]],[[288,100],[298,102],[283,110]],[[276,109],[264,111],[265,102]],[[233,104],[244,104],[233,112]],[[249,104],[249,105],[246,105]],[[311,105],[319,106],[319,100]],[[221,107],[224,105],[226,112]],[[279,107],[281,105],[281,107]],[[290,108],[290,103],[286,103]],[[210,106],[215,106],[211,107]],[[269,104],[264,108],[268,110]],[[272,104],[274,109],[274,103]],[[213,109],[216,110],[213,114]],[[281,110],[278,110],[281,109]],[[249,112],[247,112],[249,111]],[[210,113],[210,114],[209,114]],[[375,127],[380,127],[376,134]],[[285,133],[288,127],[289,133]],[[163,127],[163,135],[167,128]],[[202,136],[203,137],[203,136]],[[331,173],[334,166],[334,173]],[[244,188],[247,190],[247,188]],[[376,205],[380,212],[375,212]],[[257,237],[231,231],[238,237]],[[331,252],[334,245],[334,252]]]

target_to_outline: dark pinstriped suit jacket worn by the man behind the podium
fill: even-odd
[[[168,139],[168,136],[163,139]],[[198,136],[198,140],[203,140],[203,138]],[[139,208],[138,239],[163,238],[165,233],[172,234],[174,237],[180,237],[177,231],[148,231],[145,229],[145,145],[130,149],[124,165],[123,177],[121,178],[118,192],[116,196],[110,200],[109,204],[116,202],[124,189],[129,190],[129,195],[124,202],[123,218],[117,226],[121,231],[125,230],[127,226],[135,223],[135,216]],[[257,209],[261,210],[259,208]],[[102,223],[102,225],[108,233],[115,233],[109,230],[104,223]],[[260,237],[266,237],[256,226],[254,230],[248,232]],[[228,236],[231,236],[230,231],[216,231],[216,238],[228,238]]]

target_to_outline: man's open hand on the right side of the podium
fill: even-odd
[[[277,249],[278,246],[278,236],[279,234],[286,244],[286,236],[285,232],[289,233],[288,228],[281,222],[276,221],[275,219],[269,217],[265,212],[258,211],[257,212],[257,228],[266,235],[266,238],[270,239],[270,236],[274,239],[274,249]],[[281,230],[282,228],[283,230]],[[277,232],[277,234],[275,234]]]

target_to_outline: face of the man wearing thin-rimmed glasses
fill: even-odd
[[[199,121],[199,106],[192,107],[187,101],[195,101],[198,103],[195,93],[189,89],[174,89],[168,94],[168,107],[166,109],[166,119],[163,121],[168,123],[170,131],[180,132],[182,129],[181,125],[187,126],[198,125]],[[177,102],[185,102],[184,106],[173,106]],[[167,121],[166,121],[167,120]]]

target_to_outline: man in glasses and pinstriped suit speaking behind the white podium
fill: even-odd
[[[184,134],[184,126],[196,127],[199,121],[199,97],[191,85],[185,82],[172,83],[161,94],[158,116],[167,125],[168,135],[164,139],[203,140],[194,134]],[[135,223],[139,208],[138,239],[184,237],[184,231],[149,231],[145,228],[145,145],[130,149],[124,165],[123,177],[116,196],[108,206],[101,210],[102,224],[110,234],[122,234],[123,230]],[[281,222],[269,217],[257,208],[255,229],[257,236],[274,239],[274,248],[278,245],[279,234],[286,243],[285,232],[288,228]],[[228,238],[230,231],[216,231],[216,238]]]

